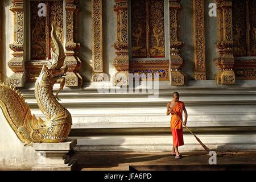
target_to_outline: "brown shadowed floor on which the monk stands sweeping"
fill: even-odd
[[[75,170],[82,171],[128,171],[129,166],[183,169],[181,165],[192,166],[190,169],[193,170],[193,166],[209,165],[210,156],[205,151],[181,152],[181,155],[183,158],[175,159],[169,152],[75,152],[72,158],[77,159]],[[217,151],[217,164],[254,164],[255,167],[256,151]]]

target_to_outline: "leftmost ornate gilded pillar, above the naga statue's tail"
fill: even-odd
[[[13,59],[8,62],[9,68],[14,72],[8,80],[9,84],[15,87],[24,86],[25,82],[25,67],[24,67],[24,14],[23,0],[13,0],[13,5],[10,10],[14,14],[14,42],[10,44],[11,50],[14,51]]]

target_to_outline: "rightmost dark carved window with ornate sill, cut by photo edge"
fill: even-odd
[[[256,1],[233,0],[234,56],[256,56]],[[237,79],[255,80],[256,59],[251,57],[234,62]]]

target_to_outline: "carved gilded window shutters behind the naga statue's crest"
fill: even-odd
[[[31,60],[51,59],[51,23],[63,43],[63,1],[31,1]],[[38,4],[46,4],[46,17],[38,16]]]

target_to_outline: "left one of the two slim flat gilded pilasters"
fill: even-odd
[[[93,81],[104,81],[102,55],[102,0],[92,0]]]

